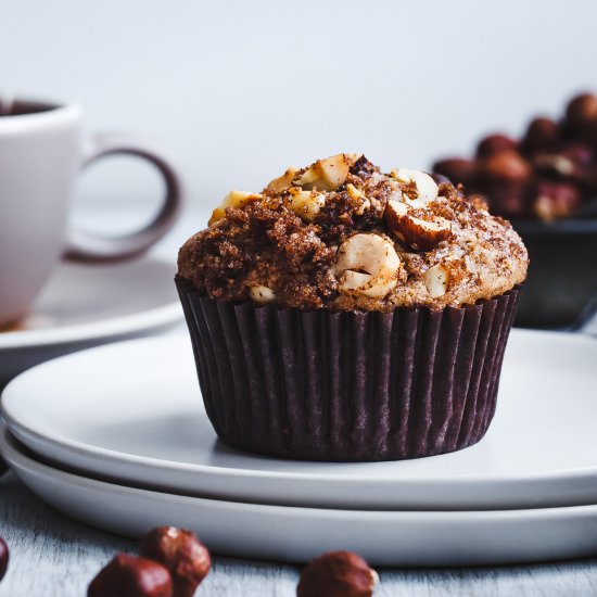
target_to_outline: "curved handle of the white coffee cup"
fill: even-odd
[[[126,134],[97,134],[84,145],[82,167],[118,153],[137,155],[151,162],[164,177],[166,196],[160,213],[141,230],[122,237],[104,237],[82,230],[68,232],[66,259],[77,262],[114,262],[136,257],[158,241],[174,225],[182,205],[182,179],[162,152],[145,140]]]

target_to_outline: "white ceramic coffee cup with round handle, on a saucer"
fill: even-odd
[[[151,162],[166,183],[162,209],[142,230],[112,238],[69,229],[77,174],[107,154]],[[0,327],[18,320],[61,257],[100,263],[147,251],[173,226],[182,201],[181,177],[144,140],[85,135],[76,104],[0,97]]]

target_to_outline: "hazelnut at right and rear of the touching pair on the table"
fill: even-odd
[[[139,554],[170,572],[176,597],[191,597],[212,568],[207,548],[191,531],[157,526],[141,541]]]

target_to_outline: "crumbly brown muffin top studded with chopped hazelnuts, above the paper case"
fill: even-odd
[[[347,153],[231,191],[178,255],[179,276],[212,298],[306,310],[459,307],[521,283],[528,265],[481,198]]]

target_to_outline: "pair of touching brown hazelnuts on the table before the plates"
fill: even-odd
[[[91,581],[88,597],[192,597],[209,572],[209,551],[191,531],[158,526],[139,546],[117,554]]]

